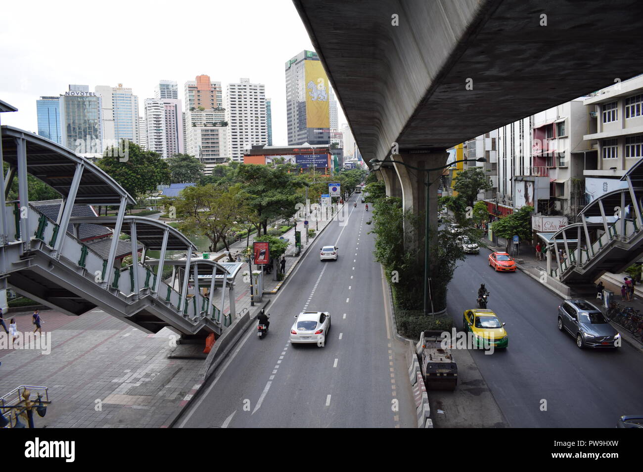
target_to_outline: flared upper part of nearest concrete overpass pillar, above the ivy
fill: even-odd
[[[439,168],[446,164],[449,154],[446,151],[431,152],[431,153],[403,153],[393,155],[392,160],[395,162],[403,162],[408,166],[413,166],[419,169]],[[402,193],[402,205],[404,211],[411,210],[418,216],[424,216],[426,211],[426,184],[427,173],[428,182],[430,184],[429,191],[429,225],[431,228],[437,229],[438,227],[438,188],[440,186],[440,176],[442,169],[435,171],[419,171],[413,170],[403,166],[402,164],[394,164],[395,172],[399,178],[399,183]],[[423,218],[422,218],[423,220]],[[422,248],[424,241],[424,224],[422,223],[419,228],[418,234],[413,234],[413,228],[406,222],[404,223],[404,243],[411,244],[417,248]]]

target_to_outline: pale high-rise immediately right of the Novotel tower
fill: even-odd
[[[132,89],[109,85],[96,85],[96,94],[101,98],[103,150],[118,146],[123,139],[138,141],[138,96]]]

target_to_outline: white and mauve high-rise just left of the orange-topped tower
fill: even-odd
[[[165,159],[185,152],[181,100],[147,98],[145,121],[148,150],[159,153]]]

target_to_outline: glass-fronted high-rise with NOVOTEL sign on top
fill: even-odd
[[[102,116],[100,96],[89,85],[70,84],[60,95],[61,144],[86,157],[100,157]]]

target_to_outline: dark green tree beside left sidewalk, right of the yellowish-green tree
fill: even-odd
[[[292,170],[291,164],[239,166],[237,178],[243,182],[248,204],[255,212],[257,236],[261,236],[262,229],[267,233],[269,219],[290,218],[296,211],[296,204],[303,203],[296,189],[301,188],[304,181],[297,174],[289,173]]]

